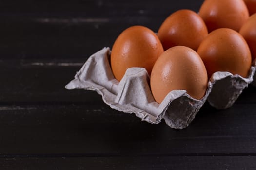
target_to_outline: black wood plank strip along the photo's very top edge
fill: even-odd
[[[123,15],[138,15],[139,10],[145,10],[145,15],[149,12],[154,14],[165,13],[165,10],[177,10],[180,8],[190,8],[198,10],[203,0],[1,0],[1,14],[37,14],[51,16],[61,14],[63,16],[112,16],[121,17]],[[98,12],[100,11],[100,13]]]

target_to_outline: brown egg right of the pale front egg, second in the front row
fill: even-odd
[[[208,77],[217,71],[228,71],[247,77],[252,57],[244,38],[229,28],[211,32],[198,47]]]

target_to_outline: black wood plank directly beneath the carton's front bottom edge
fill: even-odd
[[[0,156],[256,155],[256,104],[205,105],[184,130],[106,105],[0,107]]]

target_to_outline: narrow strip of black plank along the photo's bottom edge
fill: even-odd
[[[256,156],[0,158],[1,170],[255,170]]]

